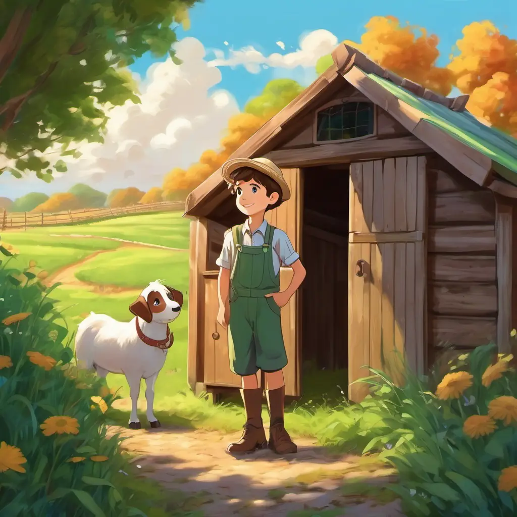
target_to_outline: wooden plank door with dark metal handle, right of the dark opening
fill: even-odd
[[[351,164],[349,383],[371,375],[368,366],[400,382],[402,357],[414,371],[423,371],[426,181],[425,157]],[[367,393],[366,383],[349,385],[348,396],[354,402]]]

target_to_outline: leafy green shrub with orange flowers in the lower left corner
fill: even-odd
[[[106,436],[115,396],[77,375],[51,291],[0,265],[0,516],[145,515],[131,505],[143,499],[125,485],[119,438]]]

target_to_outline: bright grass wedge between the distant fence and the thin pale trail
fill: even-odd
[[[189,219],[182,212],[160,212],[109,219],[73,226],[56,226],[49,233],[61,235],[96,235],[135,240],[170,248],[188,249]]]

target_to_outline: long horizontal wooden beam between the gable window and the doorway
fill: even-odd
[[[401,136],[392,139],[378,139],[372,136],[353,142],[318,144],[296,149],[278,149],[269,151],[264,156],[275,162],[279,167],[308,167],[430,152],[431,148],[414,136]]]

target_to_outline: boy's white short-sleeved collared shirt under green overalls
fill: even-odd
[[[248,220],[242,226],[242,244],[244,246],[262,246],[264,244],[264,235],[266,233],[267,221],[264,222],[258,227],[257,230],[253,232],[253,235],[250,231],[250,226],[248,224]],[[273,232],[273,270],[275,271],[275,275],[278,275],[280,271],[280,266],[290,266],[293,262],[296,262],[300,255],[295,251],[289,237],[287,234],[275,228]],[[224,242],[223,249],[221,250],[221,254],[219,258],[216,260],[216,264],[219,267],[224,267],[225,269],[232,269],[235,261],[235,246],[233,244],[233,235],[232,231],[228,230],[224,234]]]

